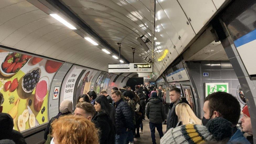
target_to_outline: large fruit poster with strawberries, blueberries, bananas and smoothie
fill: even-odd
[[[61,62],[0,50],[0,92],[3,113],[20,132],[48,121],[48,93]]]

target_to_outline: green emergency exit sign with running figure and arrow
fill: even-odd
[[[228,83],[205,83],[205,97],[214,92],[228,93]]]

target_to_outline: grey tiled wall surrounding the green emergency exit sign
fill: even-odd
[[[229,93],[237,98],[239,81],[230,61],[191,61],[186,62],[186,66],[191,83],[193,83],[195,91],[198,92],[197,98],[199,98],[202,115],[205,83],[228,83]],[[203,76],[204,72],[209,73],[209,76]],[[243,107],[243,104],[240,104]]]

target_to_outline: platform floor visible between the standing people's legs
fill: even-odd
[[[149,128],[149,119],[145,118],[146,120],[143,120],[143,134],[140,134],[140,138],[134,138],[134,143],[146,143],[150,144],[152,143],[151,139],[151,132]],[[165,134],[166,131],[166,125],[163,125],[163,133]],[[156,135],[156,143],[160,143],[160,137],[158,134],[158,131],[155,132]]]

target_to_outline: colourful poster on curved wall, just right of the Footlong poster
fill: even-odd
[[[95,82],[95,92],[97,94],[100,93],[101,90],[108,90],[108,83],[110,81],[110,78],[113,76],[111,73],[101,72],[98,76],[96,82]]]

